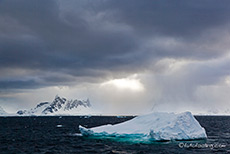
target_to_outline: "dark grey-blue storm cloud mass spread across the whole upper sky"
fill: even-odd
[[[0,69],[37,70],[33,75],[40,79],[12,76],[12,82],[1,79],[1,88],[67,84],[74,77],[100,79],[142,71],[149,62],[168,57],[218,57],[226,49],[210,50],[215,40],[206,33],[229,30],[229,3],[0,1]],[[164,44],[168,41],[173,43]]]

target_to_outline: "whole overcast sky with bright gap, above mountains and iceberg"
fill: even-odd
[[[0,106],[230,113],[230,1],[1,0]]]

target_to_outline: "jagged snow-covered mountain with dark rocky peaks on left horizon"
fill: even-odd
[[[95,114],[91,108],[89,99],[85,100],[67,100],[56,96],[53,102],[42,102],[30,110],[20,110],[18,115],[89,115]]]

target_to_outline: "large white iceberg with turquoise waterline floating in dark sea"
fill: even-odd
[[[94,128],[79,126],[83,136],[130,138],[132,141],[195,140],[207,138],[205,129],[190,112],[151,113],[129,121]]]

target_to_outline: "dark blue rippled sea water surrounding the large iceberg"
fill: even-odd
[[[78,136],[78,126],[115,124],[133,117],[1,117],[0,153],[230,153],[230,116],[196,116],[208,139],[133,144]]]

